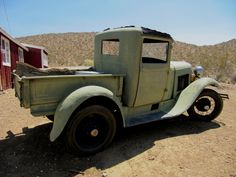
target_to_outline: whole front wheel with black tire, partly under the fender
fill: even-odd
[[[214,90],[204,89],[189,108],[188,114],[194,120],[211,121],[221,113],[222,108],[221,96]]]

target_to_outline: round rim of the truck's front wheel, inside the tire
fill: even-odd
[[[201,116],[208,116],[213,113],[216,107],[215,100],[209,96],[203,96],[197,99],[194,110]]]

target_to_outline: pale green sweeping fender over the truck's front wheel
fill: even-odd
[[[179,116],[187,111],[197,99],[202,90],[207,86],[219,86],[219,83],[212,78],[200,78],[186,87],[178,97],[175,106],[167,113],[168,116]]]

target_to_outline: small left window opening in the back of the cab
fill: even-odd
[[[119,56],[120,41],[119,39],[109,39],[102,41],[102,54]]]

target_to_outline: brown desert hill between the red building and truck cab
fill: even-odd
[[[94,36],[95,33],[51,33],[18,40],[44,46],[49,54],[49,66],[78,66],[93,59]]]

